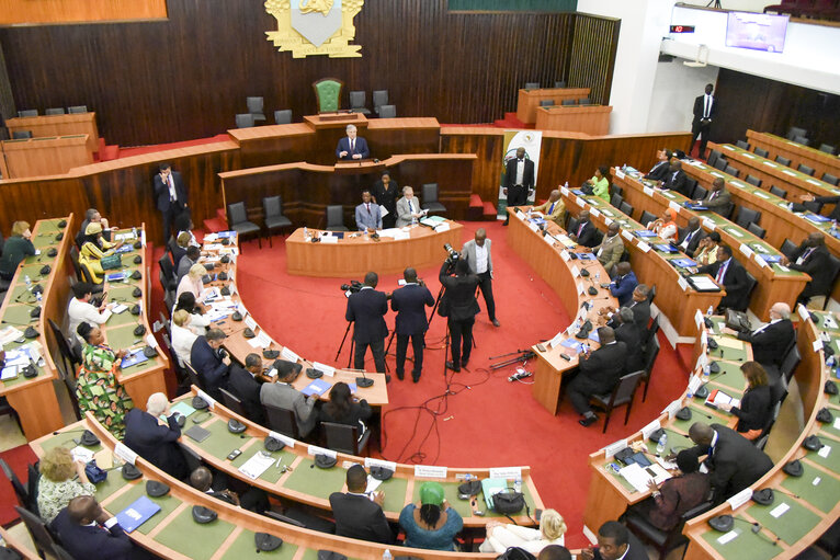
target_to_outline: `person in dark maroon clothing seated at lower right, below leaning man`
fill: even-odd
[[[700,472],[696,452],[683,449],[677,454],[677,467],[681,475],[669,478],[659,487],[650,480],[649,499],[632,505],[629,510],[660,530],[671,530],[685,512],[708,499],[708,475]]]

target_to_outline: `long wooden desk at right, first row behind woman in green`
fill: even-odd
[[[684,168],[692,168],[692,165],[686,164]],[[688,198],[680,193],[654,188],[651,181],[616,173],[616,170],[613,170],[613,174],[615,183],[624,187],[624,199],[636,210],[647,210],[655,216],[661,216],[666,208],[673,208],[677,210],[677,224],[680,227],[684,227],[689,218],[696,216],[703,229],[717,231],[720,240],[731,248],[738,262],[758,281],[749,301],[749,308],[757,317],[769,320],[770,308],[776,301],[784,301],[794,307],[796,296],[810,281],[810,276],[787,267],[783,268],[777,263],[770,264],[763,259],[758,260],[761,255],[781,255],[776,248],[719,214],[685,208],[683,204],[688,202]]]

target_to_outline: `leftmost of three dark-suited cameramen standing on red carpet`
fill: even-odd
[[[364,275],[364,285],[348,298],[348,309],[344,318],[353,321],[353,367],[364,369],[364,355],[371,346],[376,372],[385,373],[385,336],[388,327],[385,324],[385,313],[388,312],[388,298],[384,292],[376,292],[379,276],[375,272]],[[385,376],[390,380],[390,376]]]

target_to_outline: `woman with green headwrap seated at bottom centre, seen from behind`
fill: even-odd
[[[423,482],[420,504],[408,504],[399,513],[399,526],[406,534],[406,546],[428,550],[455,550],[454,538],[464,521],[444,498],[438,482]]]

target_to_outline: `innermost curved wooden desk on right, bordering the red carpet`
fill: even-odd
[[[568,251],[560,241],[565,238],[565,232],[559,226],[553,221],[547,221],[546,230],[550,236],[543,237],[536,230],[536,226],[526,221],[526,217],[521,210],[513,212],[510,209],[509,212],[508,243],[560,296],[569,317],[575,317],[584,302],[591,302],[592,308],[588,311],[587,317],[592,321],[592,324],[597,324],[600,309],[608,306],[618,306],[617,300],[610,295],[610,290],[599,286],[599,283],[609,282],[610,276],[598,262],[598,259],[567,260]],[[549,240],[550,244],[546,240]],[[576,251],[580,250],[590,252],[586,248],[576,249]],[[583,268],[589,271],[589,279],[580,276],[580,270]],[[599,279],[595,279],[595,276],[599,276]],[[590,296],[587,294],[587,288],[590,286],[598,288],[598,295]],[[531,348],[536,354],[534,385],[531,388],[531,393],[552,414],[557,414],[557,409],[560,407],[560,384],[564,374],[578,365],[578,352],[561,344],[564,341],[575,340],[574,334],[560,331],[557,334],[555,345],[552,345],[550,342],[544,345],[545,352],[536,345]],[[592,347],[599,346],[595,342],[590,342]],[[571,359],[563,359],[561,353],[567,354]]]

